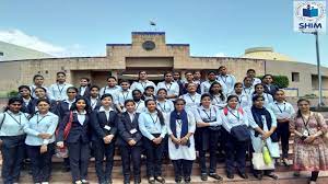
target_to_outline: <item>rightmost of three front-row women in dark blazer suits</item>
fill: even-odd
[[[136,112],[136,103],[133,100],[125,102],[126,112],[119,116],[117,124],[124,183],[130,183],[130,160],[133,162],[134,184],[141,183],[140,166],[141,166],[141,151],[142,151],[142,134],[139,130],[138,117]]]

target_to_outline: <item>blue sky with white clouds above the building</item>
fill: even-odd
[[[315,36],[293,31],[292,0],[0,0],[0,41],[58,57],[105,56],[106,44],[129,44],[134,31],[165,32],[192,56],[266,46],[316,64]],[[327,33],[319,46],[328,67]]]

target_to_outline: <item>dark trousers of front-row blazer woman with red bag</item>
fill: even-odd
[[[90,143],[78,142],[67,143],[69,150],[70,168],[73,182],[86,180],[87,164],[90,159]]]

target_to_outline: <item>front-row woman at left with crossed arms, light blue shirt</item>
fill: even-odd
[[[55,131],[59,117],[49,112],[50,102],[45,99],[37,101],[37,113],[25,124],[26,149],[31,159],[34,183],[49,183],[51,176],[51,158],[55,153]]]

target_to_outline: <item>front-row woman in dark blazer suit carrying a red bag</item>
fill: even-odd
[[[69,122],[72,112],[72,126],[66,140],[63,140],[63,131]],[[90,106],[84,97],[77,97],[72,104],[70,113],[68,113],[59,124],[59,134],[57,146],[63,148],[63,141],[69,150],[69,160],[73,183],[86,184],[87,164],[90,158]]]

